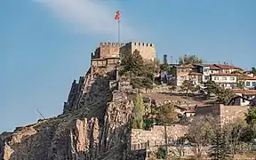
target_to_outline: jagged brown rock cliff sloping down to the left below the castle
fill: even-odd
[[[0,136],[0,159],[128,159],[133,102],[95,79],[84,104],[73,113],[41,120]],[[1,140],[2,139],[2,140]]]

